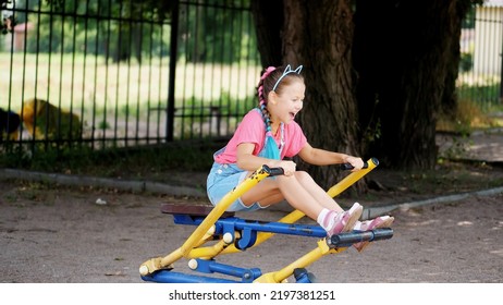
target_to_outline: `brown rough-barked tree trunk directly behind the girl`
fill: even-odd
[[[306,82],[299,123],[314,147],[358,154],[353,94],[353,12],[346,0],[284,0],[283,63],[304,65]],[[299,163],[324,188],[340,181],[336,167]],[[364,184],[358,185],[360,191]]]

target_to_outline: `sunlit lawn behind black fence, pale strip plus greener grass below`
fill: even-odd
[[[194,131],[200,108],[219,106],[229,115],[229,130],[234,115],[255,103],[255,83],[260,68],[235,63],[177,63],[175,108],[184,109],[175,120],[175,137],[208,133],[207,126]],[[149,63],[136,61],[107,63],[103,57],[75,54],[32,54],[0,52],[0,105],[21,112],[23,101],[37,97],[71,110],[84,124],[85,137],[164,136],[169,95],[169,59]],[[208,118],[203,113],[201,118]],[[204,122],[200,122],[204,123]],[[188,132],[187,132],[188,130]]]

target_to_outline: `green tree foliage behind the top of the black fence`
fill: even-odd
[[[235,3],[234,3],[235,2]],[[170,19],[176,1],[19,1],[14,17],[36,24],[28,52],[83,52],[113,62],[168,56]],[[29,5],[29,7],[27,7]],[[226,7],[225,7],[226,5]],[[179,52],[188,62],[256,62],[248,1],[180,4]],[[23,10],[27,9],[26,12]],[[5,22],[2,32],[7,33]]]

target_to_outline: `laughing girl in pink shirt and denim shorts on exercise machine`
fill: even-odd
[[[302,65],[269,66],[258,83],[259,108],[250,110],[237,126],[228,145],[213,156],[207,191],[216,205],[253,171],[267,164],[283,168],[284,175],[267,178],[243,194],[230,211],[256,210],[285,199],[295,209],[316,220],[327,235],[352,230],[372,230],[388,227],[393,218],[384,216],[359,222],[363,207],[355,203],[344,211],[305,171],[296,171],[295,162],[283,160],[298,155],[304,161],[327,166],[351,163],[359,170],[360,158],[314,148],[300,126],[294,121],[303,108],[306,86]],[[367,243],[355,244],[361,251]]]

